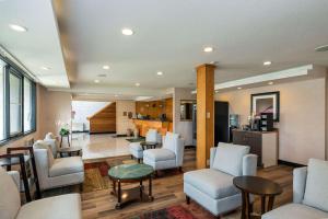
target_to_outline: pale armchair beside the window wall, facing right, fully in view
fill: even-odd
[[[36,141],[33,149],[42,191],[84,182],[81,157],[55,159],[50,146],[44,140]]]

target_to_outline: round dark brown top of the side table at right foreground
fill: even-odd
[[[233,183],[237,188],[254,195],[271,196],[282,193],[278,183],[259,176],[237,176],[234,177]]]

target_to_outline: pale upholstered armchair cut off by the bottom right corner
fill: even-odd
[[[328,218],[328,161],[309,159],[293,172],[293,203],[273,209],[262,219]]]

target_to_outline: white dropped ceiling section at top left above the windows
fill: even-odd
[[[0,14],[0,45],[36,76],[42,84],[69,88],[51,1],[1,0]],[[14,32],[9,24],[27,27],[27,32]]]

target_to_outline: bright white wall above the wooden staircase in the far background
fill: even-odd
[[[109,102],[94,102],[94,101],[72,101],[72,111],[75,112],[72,123],[83,123],[84,130],[90,130],[90,122],[86,117],[92,116]]]

